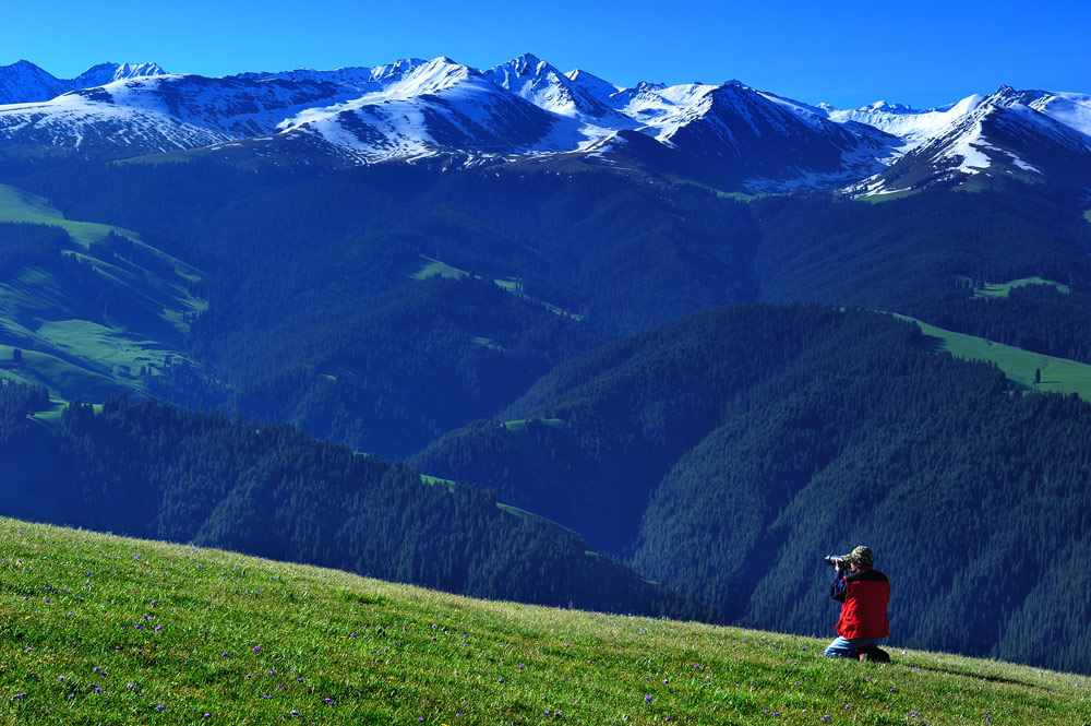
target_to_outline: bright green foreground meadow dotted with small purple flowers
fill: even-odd
[[[1087,724],[1091,713],[1079,676],[900,648],[890,665],[835,662],[807,638],[472,600],[13,520],[0,520],[0,723]]]

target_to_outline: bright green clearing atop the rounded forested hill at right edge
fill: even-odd
[[[1084,401],[1091,401],[1091,366],[1087,364],[1031,353],[1010,345],[993,343],[983,337],[955,333],[906,316],[895,317],[911,320],[920,325],[921,331],[927,336],[926,340],[937,349],[947,350],[968,360],[994,362],[1008,379],[1026,389],[1075,393]],[[1035,370],[1042,371],[1042,382],[1039,384],[1034,383]]]

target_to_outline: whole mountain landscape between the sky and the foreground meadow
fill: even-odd
[[[1091,671],[1091,95],[979,91],[0,67],[0,515]]]

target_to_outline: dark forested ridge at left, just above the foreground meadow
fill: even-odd
[[[47,403],[44,389],[0,386],[5,513],[480,597],[709,616],[491,492],[424,484],[292,426],[111,398],[99,414],[74,403],[46,428],[27,413]]]

